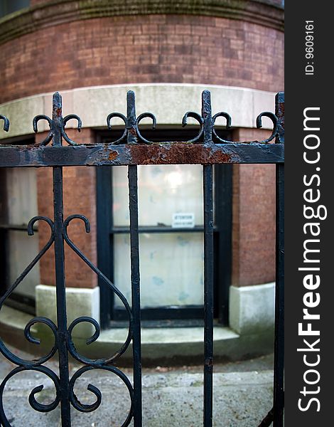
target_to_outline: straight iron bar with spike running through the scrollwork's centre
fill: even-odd
[[[62,144],[62,100],[57,92],[53,95],[53,145]],[[67,316],[65,293],[65,253],[63,238],[63,167],[53,167],[53,209],[55,223],[55,286],[57,297],[58,357],[60,376],[60,408],[63,427],[71,426],[68,348],[66,346]]]

